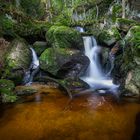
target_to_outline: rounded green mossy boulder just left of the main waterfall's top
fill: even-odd
[[[67,26],[51,26],[46,33],[46,39],[55,48],[75,48],[84,50],[81,34]]]

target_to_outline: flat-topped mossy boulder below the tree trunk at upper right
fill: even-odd
[[[135,26],[135,25],[138,25],[138,22],[136,22],[135,20],[124,19],[124,18],[116,19],[117,28],[124,32],[127,32],[132,26]]]

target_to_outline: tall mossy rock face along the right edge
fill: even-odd
[[[125,36],[124,53],[115,60],[114,77],[125,94],[140,94],[140,27],[133,26]]]

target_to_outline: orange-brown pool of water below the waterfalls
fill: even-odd
[[[130,140],[140,104],[94,94],[69,101],[60,90],[37,86],[24,103],[1,106],[0,140]]]

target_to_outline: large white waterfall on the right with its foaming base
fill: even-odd
[[[90,60],[90,65],[87,73],[84,77],[81,77],[83,81],[89,84],[94,89],[108,89],[114,92],[118,88],[118,85],[113,84],[112,79],[106,77],[102,72],[102,68],[99,61],[99,53],[101,48],[97,45],[97,42],[93,36],[83,37],[85,46],[85,55]]]

